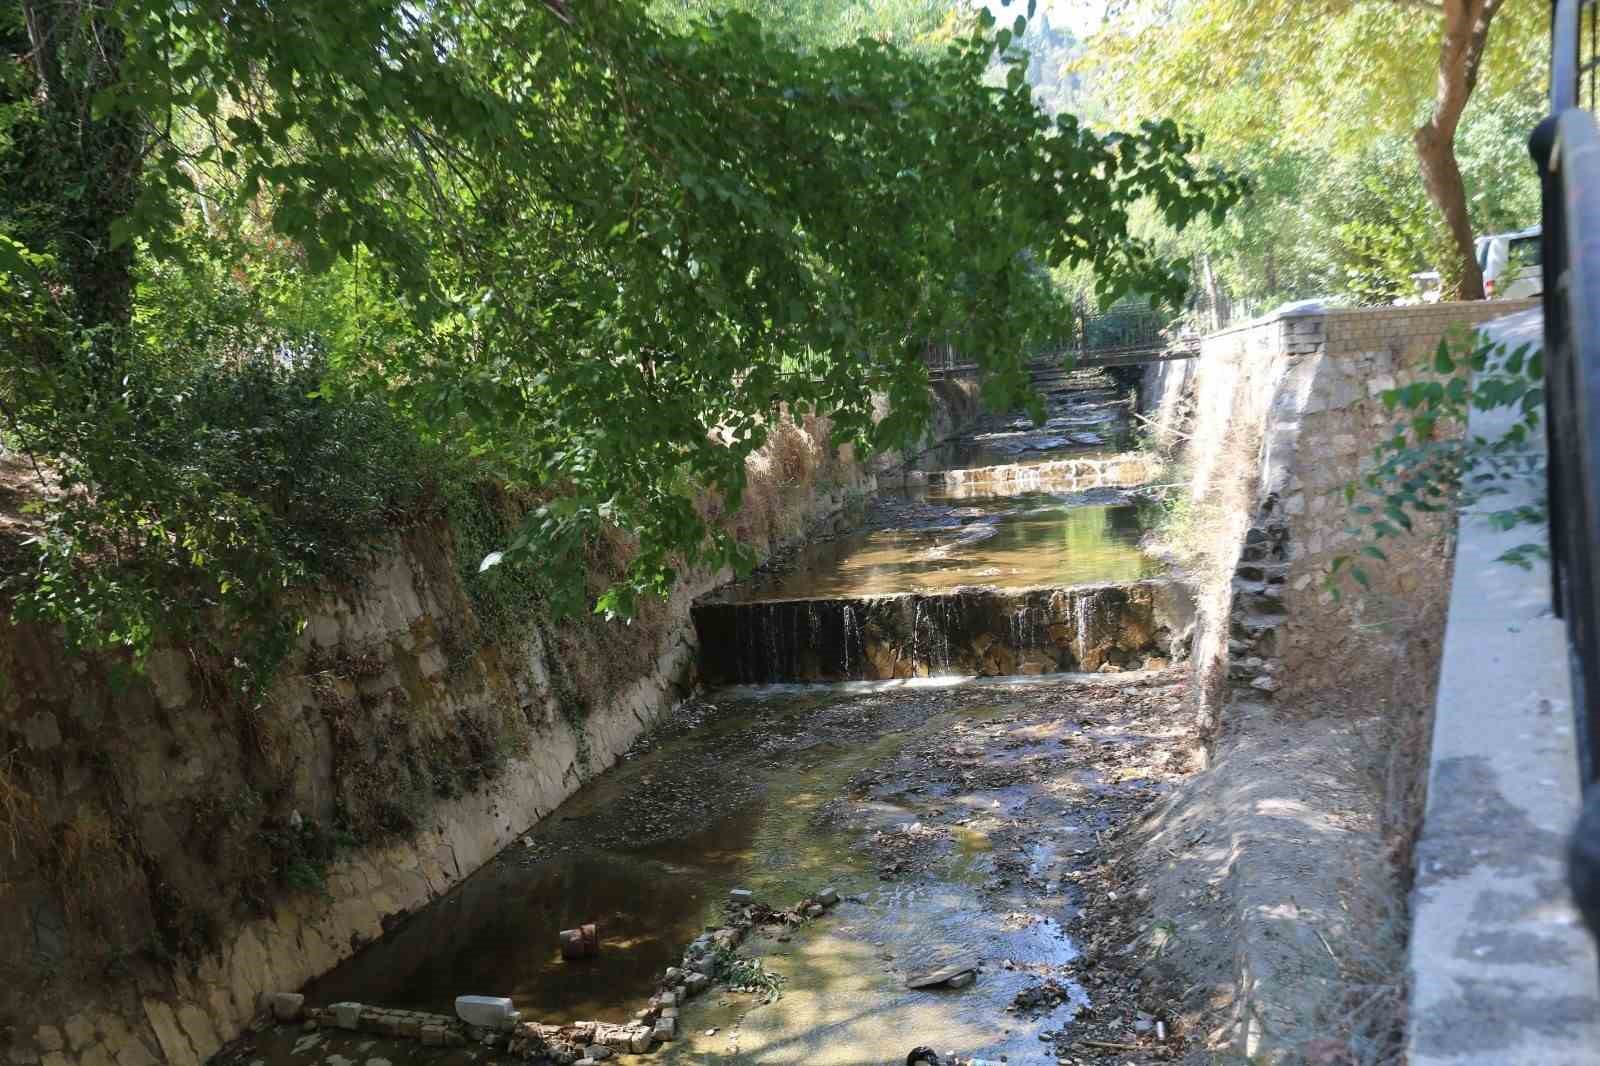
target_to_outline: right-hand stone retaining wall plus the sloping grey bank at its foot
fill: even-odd
[[[1446,331],[1526,306],[1278,315],[1206,338],[1194,370],[1150,395],[1197,511],[1224,506],[1202,527],[1211,565],[1195,575],[1208,768],[1152,815],[1142,863],[1152,914],[1186,930],[1165,965],[1195,986],[1229,972],[1208,992],[1232,1004],[1214,1039],[1253,1063],[1312,1048],[1342,1061],[1350,978],[1336,952],[1379,959],[1405,920],[1392,848],[1406,847],[1406,730],[1434,699],[1450,544],[1443,523],[1386,539],[1370,587],[1334,597],[1331,560],[1366,543],[1342,490],[1392,434],[1379,395]],[[1195,884],[1213,887],[1205,908]]]

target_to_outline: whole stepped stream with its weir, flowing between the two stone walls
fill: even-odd
[[[1098,996],[1072,928],[1099,834],[1182,768],[1184,675],[1168,666],[1187,594],[1139,549],[1131,485],[1072,472],[968,495],[968,479],[944,477],[971,467],[939,463],[1104,461],[1126,440],[1104,379],[1048,384],[1043,426],[990,419],[914,459],[861,528],[707,597],[702,674],[720,687],[307,984],[307,1002],[448,1015],[456,996],[486,994],[525,1021],[626,1023],[685,944],[726,922],[730,890],[786,908],[830,887],[827,914],[758,925],[741,948],[779,975],[773,1002],[714,986],[651,1056],[843,1066],[930,1045],[1054,1063]],[[563,962],[558,932],[584,922],[598,954]],[[947,965],[976,981],[907,988]],[[510,1056],[299,1026],[219,1058],[498,1060]]]

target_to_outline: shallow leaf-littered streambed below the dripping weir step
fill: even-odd
[[[890,1063],[931,1044],[1042,1061],[1056,1034],[1102,1024],[1120,1002],[1083,980],[1070,930],[1101,834],[1186,770],[1181,687],[1165,672],[691,701],[534,829],[531,848],[507,850],[310,986],[310,1002],[438,1008],[477,992],[510,996],[530,1021],[622,1021],[722,920],[730,888],[790,903],[827,884],[843,898],[824,917],[741,948],[784,976],[782,996],[714,988],[678,1007],[677,1039],[656,1058]],[[600,925],[600,957],[562,964],[555,932],[578,919]],[[906,986],[949,965],[976,980]],[[307,1036],[253,1034],[227,1061],[507,1058]]]

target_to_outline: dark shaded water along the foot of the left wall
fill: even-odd
[[[768,722],[779,731],[797,725],[792,714]],[[731,743],[742,749],[733,762],[749,762],[760,749],[741,743],[741,727],[750,727],[747,714],[722,715],[605,775],[563,807],[574,813],[558,820],[560,831],[571,837],[589,826],[614,826],[618,807],[630,802],[629,784],[675,760],[693,763],[706,754],[698,749]],[[662,840],[530,863],[502,856],[307,984],[306,996],[312,1004],[357,1000],[440,1013],[453,1013],[456,996],[509,996],[530,1020],[626,1021],[683,946],[715,922],[730,888],[749,887],[790,904],[824,884],[848,882],[859,860],[843,834],[818,823],[816,812],[851,773],[904,741],[906,733],[891,731],[848,747],[818,743],[781,765],[750,767],[757,799]],[[717,787],[715,779],[707,776],[706,787]],[[558,933],[584,922],[598,927],[600,954],[566,962]]]

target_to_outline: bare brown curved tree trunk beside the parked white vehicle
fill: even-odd
[[[1472,248],[1472,216],[1467,189],[1456,165],[1456,130],[1472,90],[1478,83],[1490,21],[1501,0],[1443,0],[1443,34],[1438,42],[1438,83],[1434,110],[1411,134],[1427,198],[1438,208],[1454,243],[1462,299],[1483,299],[1483,274]],[[1443,264],[1440,264],[1443,266]],[[1450,271],[1440,271],[1442,275]]]

